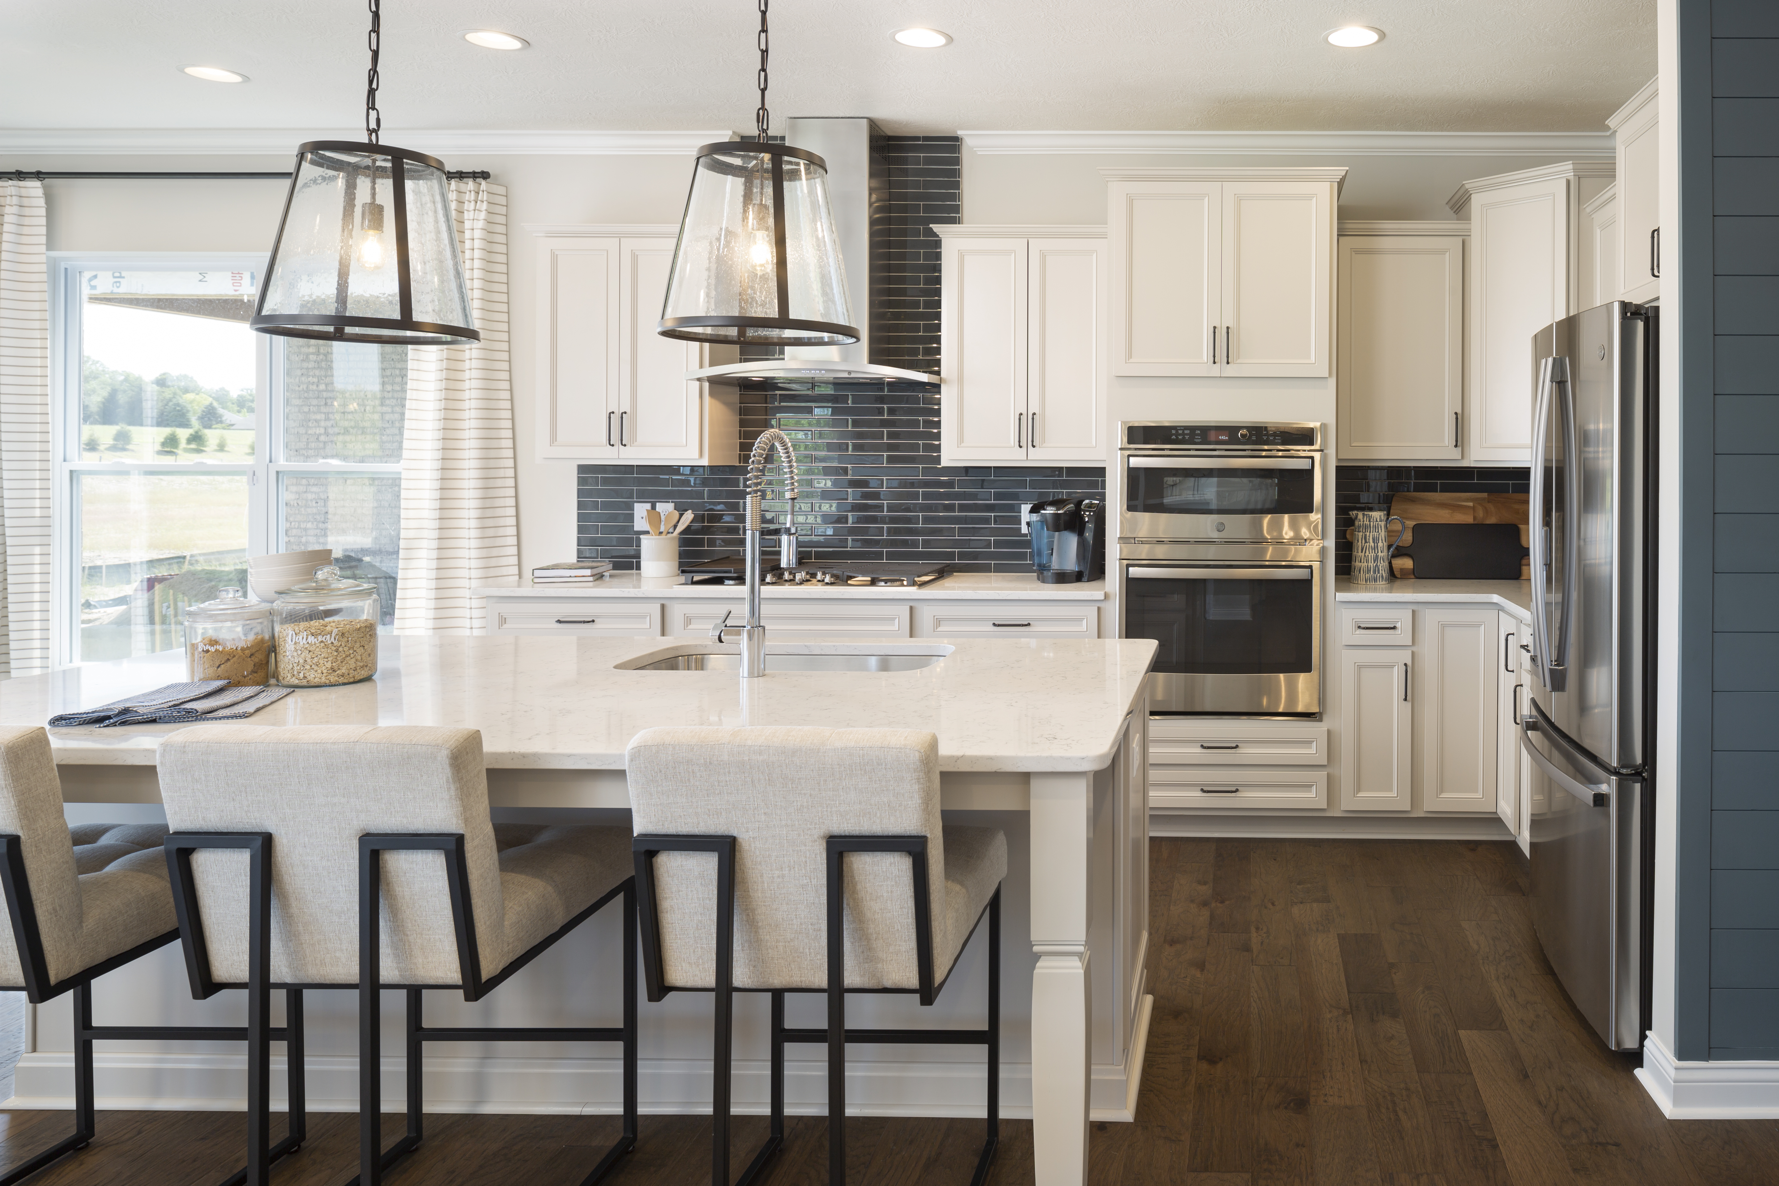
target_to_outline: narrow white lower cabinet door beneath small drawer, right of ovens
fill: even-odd
[[[1413,805],[1414,653],[1345,647],[1341,677],[1340,805],[1407,811]]]

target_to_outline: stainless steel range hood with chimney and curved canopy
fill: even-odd
[[[834,213],[834,235],[847,268],[847,304],[859,329],[850,347],[786,347],[783,359],[729,363],[687,372],[687,379],[740,384],[751,379],[900,379],[938,382],[938,375],[872,361],[872,336],[879,327],[873,274],[872,215],[884,222],[890,203],[890,169],[873,149],[882,132],[870,119],[792,119],[785,142],[808,149],[827,162],[827,203]]]

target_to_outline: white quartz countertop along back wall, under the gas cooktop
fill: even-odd
[[[742,585],[681,585],[671,576],[639,576],[637,573],[612,573],[592,585],[523,585],[518,589],[473,589],[477,597],[543,597],[564,601],[576,597],[672,597],[680,599],[740,599],[745,596]],[[767,599],[866,599],[879,601],[1021,601],[1059,599],[1059,601],[1105,601],[1107,583],[1082,581],[1076,585],[1044,585],[1030,573],[955,573],[930,585],[909,589],[907,585],[763,585],[760,590]]]

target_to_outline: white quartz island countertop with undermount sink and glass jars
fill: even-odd
[[[374,679],[299,688],[254,713],[263,725],[454,725],[482,731],[491,768],[623,770],[651,725],[925,729],[952,772],[1101,770],[1155,660],[1146,638],[959,638],[767,642],[772,651],[945,653],[909,672],[617,670],[649,653],[717,649],[703,640],[393,637]],[[735,651],[735,645],[722,647]],[[0,681],[0,724],[41,725],[185,677],[183,653],[66,667]],[[60,765],[148,766],[180,725],[52,729]],[[205,727],[205,725],[194,725]]]

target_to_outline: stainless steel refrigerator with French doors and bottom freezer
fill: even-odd
[[[1615,301],[1532,340],[1532,916],[1614,1049],[1649,1030],[1654,318]]]

